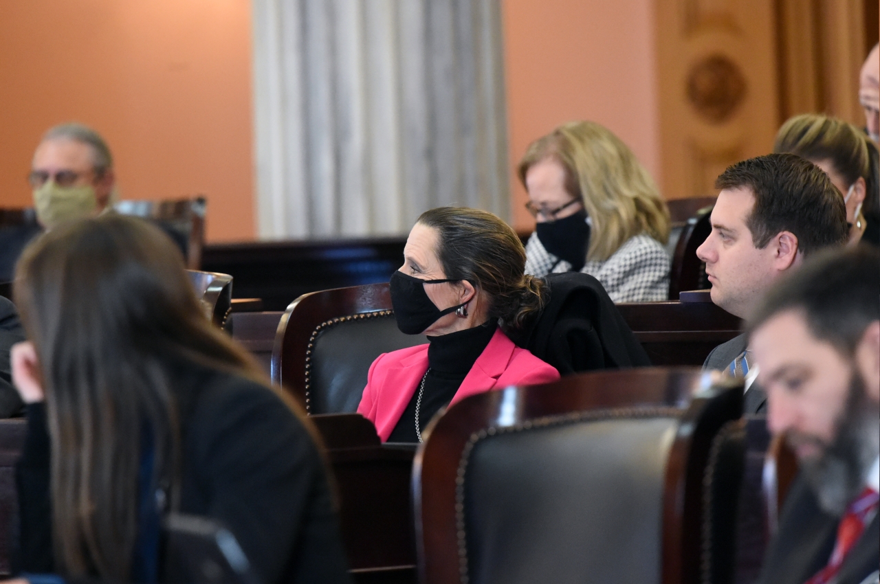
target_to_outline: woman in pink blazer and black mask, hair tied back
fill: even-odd
[[[419,217],[392,275],[401,332],[427,345],[379,355],[357,411],[382,442],[422,442],[447,405],[509,385],[559,379],[552,366],[513,344],[544,305],[543,282],[524,274],[525,250],[507,223],[470,208],[431,209]]]

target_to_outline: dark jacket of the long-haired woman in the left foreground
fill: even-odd
[[[238,376],[187,365],[173,380],[183,434],[180,511],[228,527],[266,584],[348,582],[326,470],[303,423],[274,391]],[[27,410],[13,569],[51,573],[45,407]],[[160,581],[180,580],[165,566]]]

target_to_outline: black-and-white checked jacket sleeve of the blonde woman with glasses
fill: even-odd
[[[588,261],[581,271],[602,282],[615,303],[648,303],[669,297],[670,267],[664,246],[642,234],[631,237],[606,261]]]

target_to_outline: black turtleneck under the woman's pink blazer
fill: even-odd
[[[450,332],[439,337],[428,337],[428,376],[419,407],[419,429],[424,431],[434,414],[448,405],[455,392],[465,380],[473,363],[492,340],[498,325],[490,321],[464,331]],[[419,385],[422,380],[419,379]],[[419,398],[419,385],[415,386],[413,398],[397,422],[388,442],[419,442],[415,434],[415,402]]]

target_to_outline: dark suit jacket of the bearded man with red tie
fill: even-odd
[[[776,533],[764,557],[759,584],[803,584],[828,563],[839,517],[818,506],[803,476],[791,486]],[[862,533],[840,566],[837,584],[861,584],[880,565],[880,518]]]

